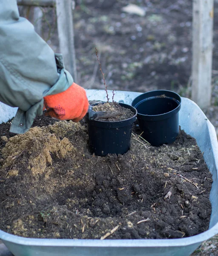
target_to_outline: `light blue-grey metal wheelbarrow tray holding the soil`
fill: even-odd
[[[109,92],[111,93],[111,92]],[[116,91],[115,100],[131,104],[140,93]],[[87,90],[89,100],[105,100],[104,90]],[[0,104],[0,123],[8,121],[16,108]],[[33,239],[14,236],[0,230],[0,239],[14,256],[188,256],[203,241],[218,233],[218,141],[215,128],[201,109],[190,99],[182,98],[179,112],[181,129],[195,137],[204,160],[212,173],[210,193],[212,214],[209,230],[181,239],[82,240]]]

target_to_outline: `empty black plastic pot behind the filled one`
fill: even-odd
[[[179,132],[181,97],[169,90],[153,90],[136,97],[132,106],[142,137],[153,146],[172,143]]]

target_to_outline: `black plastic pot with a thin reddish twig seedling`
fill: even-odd
[[[97,49],[95,48],[95,50],[98,59]],[[98,104],[119,104],[121,107],[130,109],[132,111],[132,116],[128,119],[121,118],[119,121],[110,121],[108,119],[109,117],[120,116],[119,111],[94,111],[93,109],[95,108],[93,107],[98,104],[91,105],[85,116],[85,121],[88,126],[89,147],[91,153],[98,156],[106,156],[107,154],[125,154],[130,148],[132,125],[136,120],[137,110],[131,105],[115,102],[114,91],[112,95],[112,102],[109,102],[107,86],[99,59],[98,63],[103,76],[107,98],[107,102]]]

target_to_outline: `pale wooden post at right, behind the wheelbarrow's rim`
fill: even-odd
[[[193,0],[192,100],[207,108],[211,99],[213,0]]]

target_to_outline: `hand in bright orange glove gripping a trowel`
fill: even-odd
[[[73,83],[66,91],[44,97],[46,116],[79,122],[87,113],[89,102],[83,87]]]

